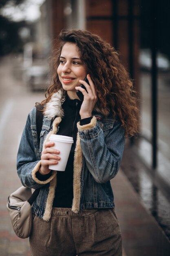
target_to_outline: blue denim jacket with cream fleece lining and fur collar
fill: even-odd
[[[45,180],[38,180],[36,172],[41,165],[44,142],[56,134],[64,115],[63,91],[53,94],[46,104],[40,133],[40,145],[36,131],[36,108],[29,113],[17,155],[17,171],[23,186],[40,189],[32,206],[34,214],[49,221],[57,186],[57,172]],[[78,133],[74,156],[72,211],[83,209],[113,208],[114,196],[110,180],[119,169],[124,150],[124,128],[113,117],[93,112],[90,124],[77,123]]]

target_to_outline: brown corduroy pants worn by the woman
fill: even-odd
[[[122,256],[115,209],[53,208],[49,222],[35,216],[30,248],[31,256]]]

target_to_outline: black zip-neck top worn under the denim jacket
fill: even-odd
[[[68,157],[68,162],[65,171],[57,171],[57,187],[55,190],[55,198],[53,201],[53,207],[71,208],[73,202],[73,163],[74,152],[77,140],[77,122],[80,121],[80,125],[90,123],[92,117],[80,119],[79,110],[81,108],[82,101],[78,99],[71,100],[66,97],[66,100],[62,104],[64,110],[64,117],[59,124],[57,135],[64,135],[73,137],[74,143],[71,146],[71,152]],[[41,175],[36,173],[39,180],[47,180],[51,173],[47,175]]]

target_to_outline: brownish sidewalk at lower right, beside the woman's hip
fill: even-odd
[[[170,241],[144,208],[124,173],[111,180],[127,256],[169,256]]]

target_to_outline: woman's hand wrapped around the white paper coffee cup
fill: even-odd
[[[51,148],[54,144],[54,142],[46,142],[44,144],[44,150],[41,155],[41,166],[39,168],[39,173],[42,175],[50,173],[51,170],[49,169],[49,165],[58,164],[58,161],[60,160],[60,157],[58,156],[60,151],[55,148]],[[53,159],[53,161],[49,159]]]

